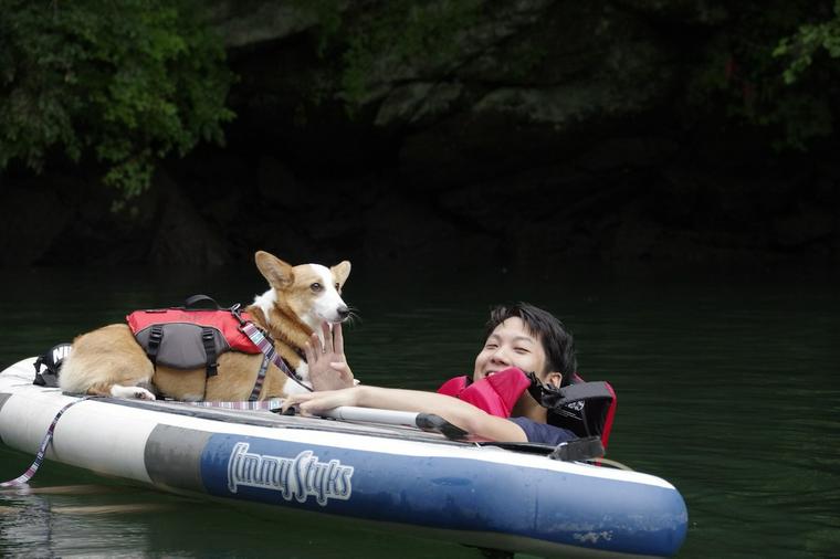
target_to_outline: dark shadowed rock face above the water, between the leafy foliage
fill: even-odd
[[[346,2],[342,18],[360,25],[375,3]],[[216,2],[241,77],[238,118],[225,148],[166,164],[144,218],[103,223],[125,233],[111,239],[145,239],[128,257],[840,261],[838,164],[779,156],[760,131],[686,109],[687,67],[726,21],[723,3],[487,1],[445,52],[377,53],[353,116],[340,51],[317,55],[318,21],[302,4]],[[51,228],[3,262],[55,257],[59,233],[90,238],[78,220]]]

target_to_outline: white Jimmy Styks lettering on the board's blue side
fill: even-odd
[[[256,454],[248,443],[237,443],[228,461],[228,489],[259,487],[276,491],[286,499],[304,503],[315,497],[321,506],[328,499],[347,500],[353,493],[353,466],[337,460],[321,462],[312,451],[293,458]]]

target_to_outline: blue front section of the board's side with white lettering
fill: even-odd
[[[673,555],[687,524],[675,489],[468,458],[214,434],[200,467],[217,496],[623,553]]]

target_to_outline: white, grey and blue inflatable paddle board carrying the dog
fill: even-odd
[[[33,361],[0,373],[0,441],[34,455],[78,399],[33,386]],[[179,494],[537,555],[668,557],[687,526],[682,496],[659,477],[396,425],[90,399],[66,410],[46,457]]]

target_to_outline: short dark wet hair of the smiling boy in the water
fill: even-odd
[[[484,339],[493,334],[496,326],[514,317],[525,323],[528,331],[535,335],[543,344],[543,350],[545,350],[546,356],[546,370],[534,372],[542,375],[547,371],[557,371],[563,375],[563,384],[568,384],[571,381],[571,377],[577,372],[575,340],[571,337],[571,333],[567,331],[563,323],[553,314],[527,303],[498,305],[490,312],[490,320],[487,320]]]

